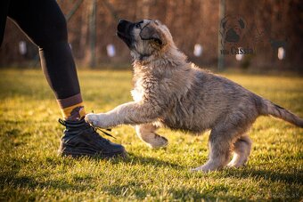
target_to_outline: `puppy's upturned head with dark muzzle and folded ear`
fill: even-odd
[[[135,59],[159,54],[173,44],[168,28],[159,20],[119,20],[117,35],[127,44]]]

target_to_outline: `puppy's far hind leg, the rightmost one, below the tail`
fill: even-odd
[[[239,167],[244,165],[250,156],[252,141],[247,135],[241,136],[233,144],[233,159],[227,166]]]

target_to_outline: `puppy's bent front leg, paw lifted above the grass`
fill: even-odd
[[[152,124],[135,125],[135,132],[138,137],[142,141],[146,142],[146,144],[151,148],[167,146],[168,140],[165,137],[155,133],[156,130],[157,126]]]

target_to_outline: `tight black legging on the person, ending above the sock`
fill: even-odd
[[[56,1],[0,1],[0,29],[4,29],[7,15],[37,44],[42,69],[56,98],[65,99],[80,93],[75,62],[68,44],[66,20]]]

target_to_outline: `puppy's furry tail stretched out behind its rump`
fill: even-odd
[[[291,113],[291,111],[283,109],[283,107],[280,107],[271,101],[267,101],[261,97],[258,97],[258,99],[258,109],[260,115],[271,115],[273,117],[278,117],[290,122],[293,125],[303,127],[303,118],[298,117],[297,115]]]

